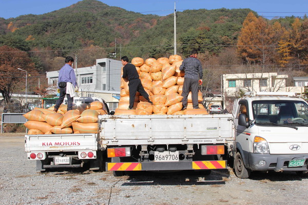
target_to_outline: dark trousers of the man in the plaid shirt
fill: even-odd
[[[182,92],[182,105],[183,107],[187,107],[187,97],[189,91],[191,91],[191,98],[192,98],[192,107],[197,109],[199,108],[198,105],[198,85],[199,79],[191,79],[191,78],[184,78],[184,85],[183,85],[183,92]]]

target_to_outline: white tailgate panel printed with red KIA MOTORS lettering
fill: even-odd
[[[25,135],[26,152],[59,152],[97,149],[97,134]]]

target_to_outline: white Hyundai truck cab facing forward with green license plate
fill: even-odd
[[[295,93],[247,92],[233,110],[236,140],[234,169],[307,172],[308,105]]]

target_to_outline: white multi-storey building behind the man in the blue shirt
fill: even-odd
[[[74,69],[79,86],[78,96],[103,98],[109,109],[115,110],[120,99],[121,68],[120,60],[102,58],[97,59],[96,65]],[[54,88],[53,95],[57,94],[59,70],[46,74],[48,85]]]

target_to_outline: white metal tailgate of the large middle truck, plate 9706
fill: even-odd
[[[114,115],[100,119],[101,137],[108,145],[216,143],[234,137],[231,114]]]

